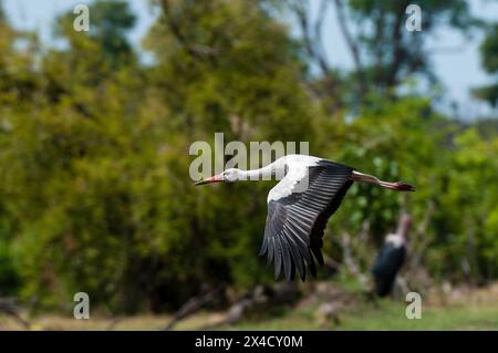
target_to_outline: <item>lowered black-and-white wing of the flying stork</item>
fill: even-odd
[[[304,281],[307,268],[317,276],[314,259],[323,264],[323,231],[353,183],[353,168],[323,159],[310,166],[290,164],[287,168],[289,173],[269,194],[259,253],[267,253],[268,263],[274,262],[276,279],[283,270],[289,281],[298,268]]]

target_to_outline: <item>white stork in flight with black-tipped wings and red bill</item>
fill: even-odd
[[[237,180],[283,178],[268,194],[264,238],[259,252],[274,262],[274,277],[290,281],[298,268],[305,280],[307,268],[317,277],[314,259],[323,266],[323,231],[353,181],[369,183],[396,191],[413,191],[406,183],[382,181],[343,164],[307,156],[288,155],[260,169],[230,168],[195,185]],[[303,187],[304,186],[304,187]]]

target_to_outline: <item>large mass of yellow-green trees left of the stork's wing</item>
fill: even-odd
[[[311,137],[294,43],[250,2],[172,6],[179,19],[165,12],[149,34],[153,68],[108,56],[61,18],[69,46],[43,55],[37,108],[17,113],[2,155],[23,297],[55,305],[84,290],[131,312],[271,278],[256,257],[269,185],[194,188],[187,152],[215,132]]]

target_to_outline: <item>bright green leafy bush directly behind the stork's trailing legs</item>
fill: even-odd
[[[375,110],[369,108],[344,125],[344,135],[335,138],[339,144],[333,146],[331,157],[384,180],[403,179],[416,185],[409,203],[415,206],[412,211],[422,216],[426,203],[437,195],[435,183],[440,170],[435,166],[444,160],[436,157],[445,158],[438,153],[444,136],[444,129],[438,129],[442,124],[440,117],[430,112],[429,102],[380,100]],[[357,232],[362,221],[367,220],[381,241],[396,224],[403,195],[367,185],[353,185],[349,195],[351,201],[341,207],[341,215],[345,215],[341,226]]]

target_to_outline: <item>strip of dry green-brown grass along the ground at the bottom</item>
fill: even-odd
[[[330,302],[335,320],[324,318],[319,308]],[[377,305],[354,292],[338,290],[333,283],[320,283],[313,295],[294,308],[276,308],[271,312],[251,313],[250,318],[221,330],[498,330],[498,283],[483,289],[434,289],[423,302],[423,318],[407,320],[406,303],[381,300]],[[199,330],[224,318],[220,312],[200,312],[180,321],[175,330]],[[72,316],[32,318],[31,330],[159,330],[169,315],[137,315],[110,319],[93,315],[90,320]],[[0,330],[22,330],[14,320],[0,315]]]

